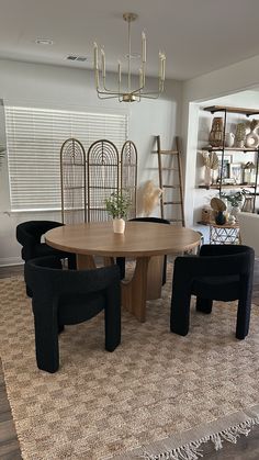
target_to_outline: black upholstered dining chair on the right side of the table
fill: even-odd
[[[249,330],[255,251],[241,245],[203,245],[199,256],[177,257],[173,269],[170,328],[189,332],[190,300],[196,310],[211,313],[213,301],[238,300],[236,338]]]

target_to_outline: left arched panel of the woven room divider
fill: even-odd
[[[87,221],[86,152],[69,138],[60,149],[61,216],[64,224]]]

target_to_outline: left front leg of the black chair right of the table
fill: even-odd
[[[182,294],[176,285],[172,290],[170,329],[171,333],[185,336],[189,332],[191,294]]]

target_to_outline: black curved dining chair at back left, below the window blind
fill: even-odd
[[[49,229],[61,226],[60,222],[55,221],[27,221],[16,226],[16,240],[22,245],[21,256],[26,262],[30,259],[44,256],[57,256],[60,259],[68,259],[68,267],[76,268],[76,256],[54,249],[42,242],[42,236]],[[27,295],[30,291],[26,287]]]

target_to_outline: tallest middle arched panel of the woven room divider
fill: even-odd
[[[119,152],[106,139],[94,142],[87,155],[88,222],[108,221],[105,198],[119,192]]]

